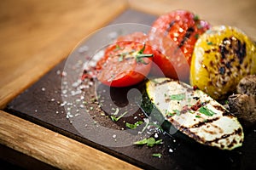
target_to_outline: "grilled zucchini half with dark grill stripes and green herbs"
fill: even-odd
[[[160,121],[169,122],[169,127],[176,127],[196,142],[221,150],[241,146],[244,133],[240,122],[201,90],[169,78],[155,78],[146,82],[146,96],[145,111],[159,111],[163,117]]]

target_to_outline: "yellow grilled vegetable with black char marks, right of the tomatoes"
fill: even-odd
[[[190,68],[192,86],[213,99],[226,99],[242,77],[256,72],[256,49],[235,27],[213,26],[195,43]]]

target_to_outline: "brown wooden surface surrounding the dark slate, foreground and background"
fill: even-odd
[[[80,40],[127,8],[156,15],[188,9],[212,25],[239,27],[256,41],[255,0],[2,0],[0,144],[61,169],[138,168],[3,111],[11,99],[65,59]]]

